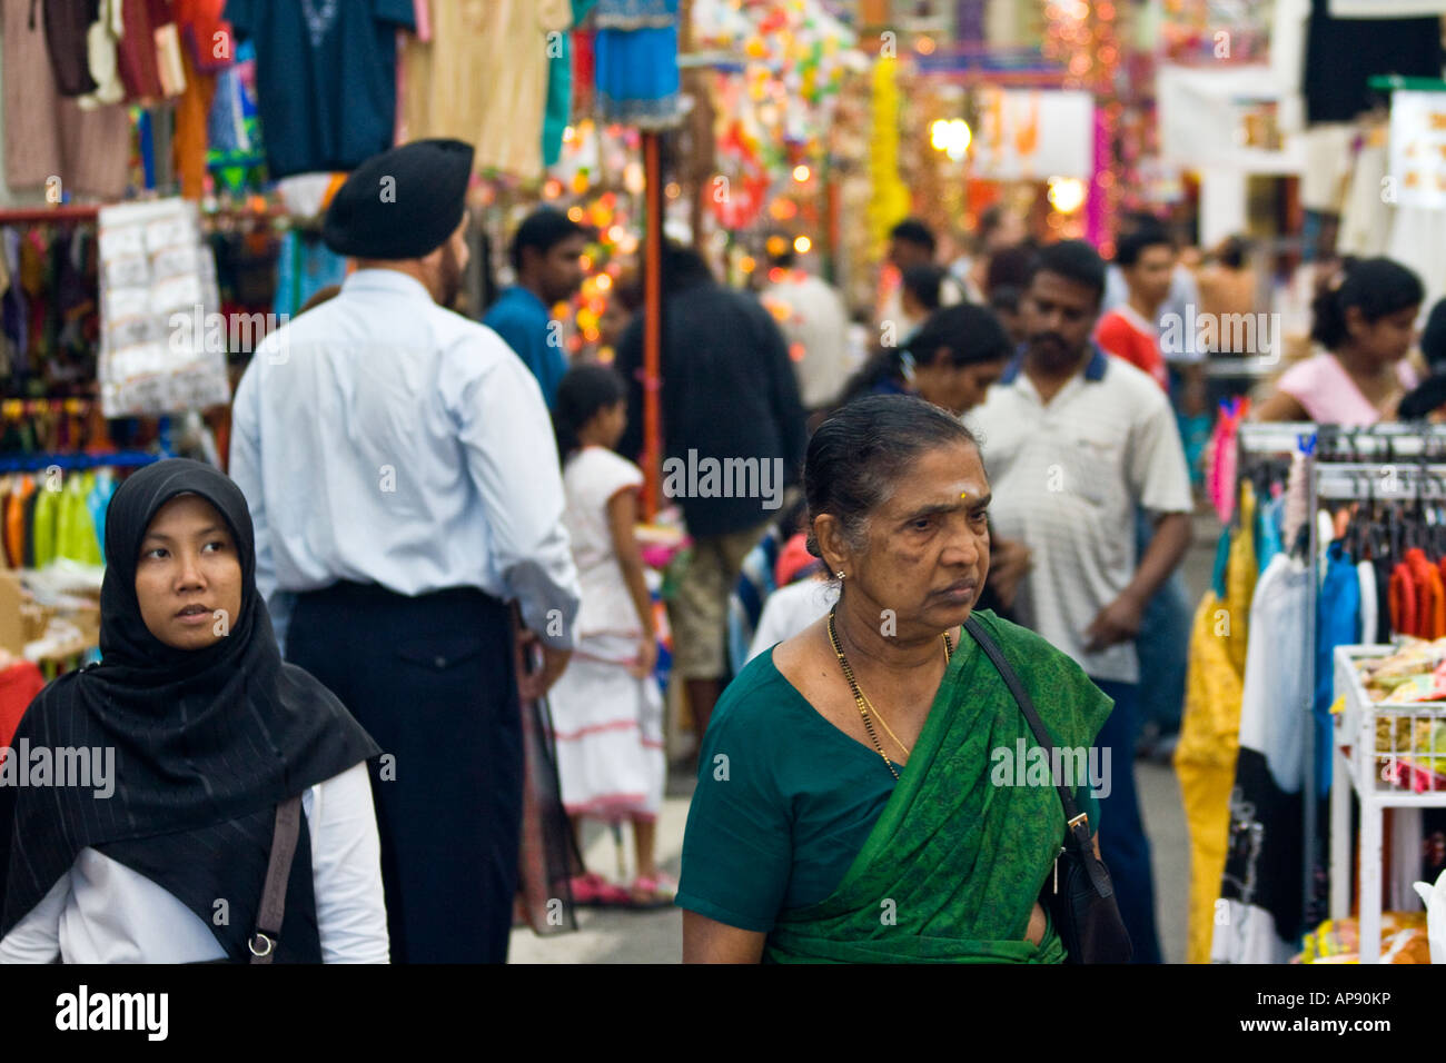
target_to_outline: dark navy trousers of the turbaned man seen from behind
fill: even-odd
[[[392,962],[505,962],[523,772],[506,606],[338,583],[298,596],[286,659],[382,746],[367,767]]]

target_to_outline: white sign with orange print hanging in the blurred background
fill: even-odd
[[[979,90],[973,175],[992,181],[1089,181],[1095,174],[1095,98],[1053,90]]]

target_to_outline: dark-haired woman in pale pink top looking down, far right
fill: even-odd
[[[1348,259],[1316,296],[1310,338],[1327,353],[1291,366],[1257,411],[1259,421],[1366,427],[1395,417],[1416,385],[1404,359],[1426,291],[1391,259]]]

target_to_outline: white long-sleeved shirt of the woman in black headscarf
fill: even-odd
[[[366,764],[301,795],[311,836],[322,963],[386,963],[382,845]],[[226,959],[210,927],[174,894],[95,849],[0,940],[0,963],[202,963]]]

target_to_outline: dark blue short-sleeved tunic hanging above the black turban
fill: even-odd
[[[272,179],[353,169],[392,146],[396,30],[412,27],[412,0],[227,0],[226,17],[256,42]]]

